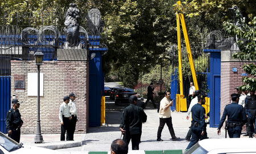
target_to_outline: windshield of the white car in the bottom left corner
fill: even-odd
[[[0,133],[0,145],[9,152],[22,147],[19,143],[15,142],[2,133]]]

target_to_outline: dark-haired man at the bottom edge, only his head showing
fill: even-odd
[[[111,154],[127,154],[128,144],[122,139],[115,139],[111,144],[110,153]]]

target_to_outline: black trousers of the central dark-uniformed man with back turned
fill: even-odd
[[[133,150],[139,149],[139,141],[141,139],[141,134],[130,134],[130,132],[126,132],[125,135],[123,135],[123,140],[129,145],[131,140],[131,148]]]

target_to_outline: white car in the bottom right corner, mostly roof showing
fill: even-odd
[[[255,138],[228,138],[200,140],[185,154],[256,154]]]

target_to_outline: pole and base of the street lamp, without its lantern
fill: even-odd
[[[43,136],[41,134],[40,126],[40,65],[38,65],[38,121],[36,123],[35,143],[43,143]]]

